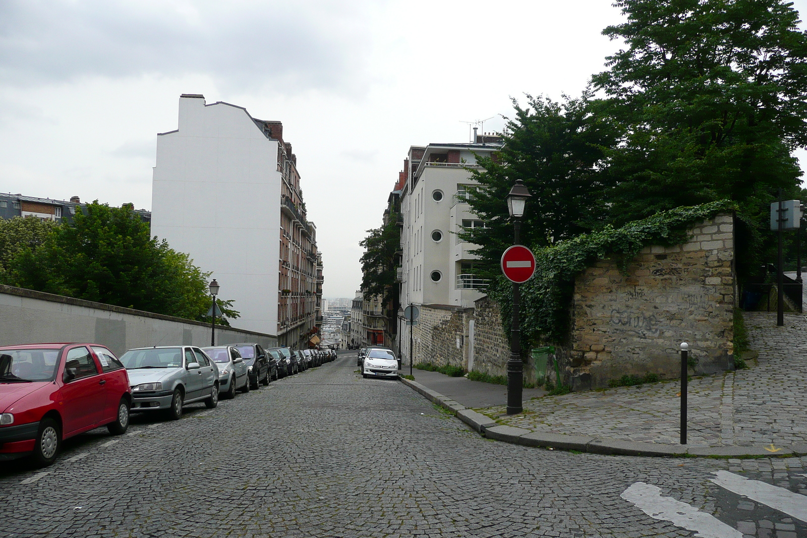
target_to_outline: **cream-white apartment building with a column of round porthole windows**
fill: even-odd
[[[410,148],[401,194],[402,306],[469,308],[483,297],[486,282],[475,276],[478,256],[470,252],[476,245],[459,240],[457,232],[484,226],[466,202],[467,190],[478,185],[466,168],[476,166],[475,154],[499,148],[495,143]]]

